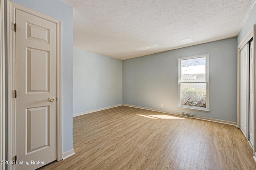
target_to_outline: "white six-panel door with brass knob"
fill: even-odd
[[[16,25],[16,168],[29,170],[57,157],[57,26],[20,10]]]

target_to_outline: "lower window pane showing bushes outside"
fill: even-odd
[[[206,107],[206,83],[182,83],[181,105]]]

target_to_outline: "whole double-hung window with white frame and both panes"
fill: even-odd
[[[178,59],[178,106],[209,110],[209,54]]]

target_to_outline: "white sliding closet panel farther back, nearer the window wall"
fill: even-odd
[[[246,44],[240,51],[240,128],[244,135],[247,137],[247,130],[248,130],[248,45]]]

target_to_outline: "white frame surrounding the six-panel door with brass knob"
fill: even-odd
[[[22,10],[34,16],[52,21],[57,24],[57,161],[62,160],[62,61],[61,61],[61,21],[10,0],[7,1],[7,160],[14,160],[16,156],[16,33],[14,23],[16,22],[15,10]],[[8,165],[8,169],[15,167]],[[15,167],[16,168],[16,167]]]

